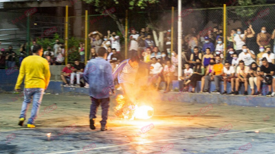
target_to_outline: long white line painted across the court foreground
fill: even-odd
[[[252,130],[246,130],[246,131],[259,131],[259,130],[265,130],[265,129],[274,129],[275,127],[270,127],[270,128],[263,128],[263,129],[252,129]],[[243,133],[245,131],[235,131],[235,132],[229,132],[229,133],[219,133],[217,134],[217,136],[221,136],[223,134],[231,134],[231,133]],[[213,136],[213,135],[207,135],[207,136]],[[107,148],[111,148],[111,147],[116,147],[116,146],[126,146],[129,144],[144,144],[145,143],[151,143],[151,142],[164,142],[164,141],[171,141],[171,140],[184,140],[184,139],[188,139],[188,138],[203,138],[206,136],[193,136],[193,137],[186,137],[186,138],[175,138],[175,139],[168,139],[168,140],[156,140],[156,141],[147,141],[147,142],[131,142],[128,144],[119,144],[119,145],[115,145],[115,146],[102,146],[102,147],[98,147],[98,148],[94,148],[94,149],[107,149]],[[89,151],[92,151],[94,149],[91,149]],[[87,149],[88,150],[88,149]],[[73,153],[73,152],[78,152],[78,151],[83,151],[83,150],[74,150],[74,151],[61,151],[58,153]],[[45,154],[58,154],[58,153],[45,153]]]

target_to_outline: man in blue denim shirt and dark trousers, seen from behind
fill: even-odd
[[[89,96],[91,97],[90,128],[96,129],[95,119],[98,106],[102,107],[101,131],[107,130],[107,118],[109,111],[109,90],[115,93],[111,65],[104,60],[106,49],[98,49],[98,56],[90,60],[85,68],[84,79],[89,84]],[[94,68],[94,69],[91,69]],[[94,71],[92,71],[94,70]]]

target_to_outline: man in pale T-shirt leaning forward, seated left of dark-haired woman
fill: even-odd
[[[245,66],[245,62],[241,60],[239,66],[236,68],[236,87],[235,95],[239,94],[240,84],[245,84],[245,92],[243,95],[248,95],[248,73],[250,73],[249,66]]]

